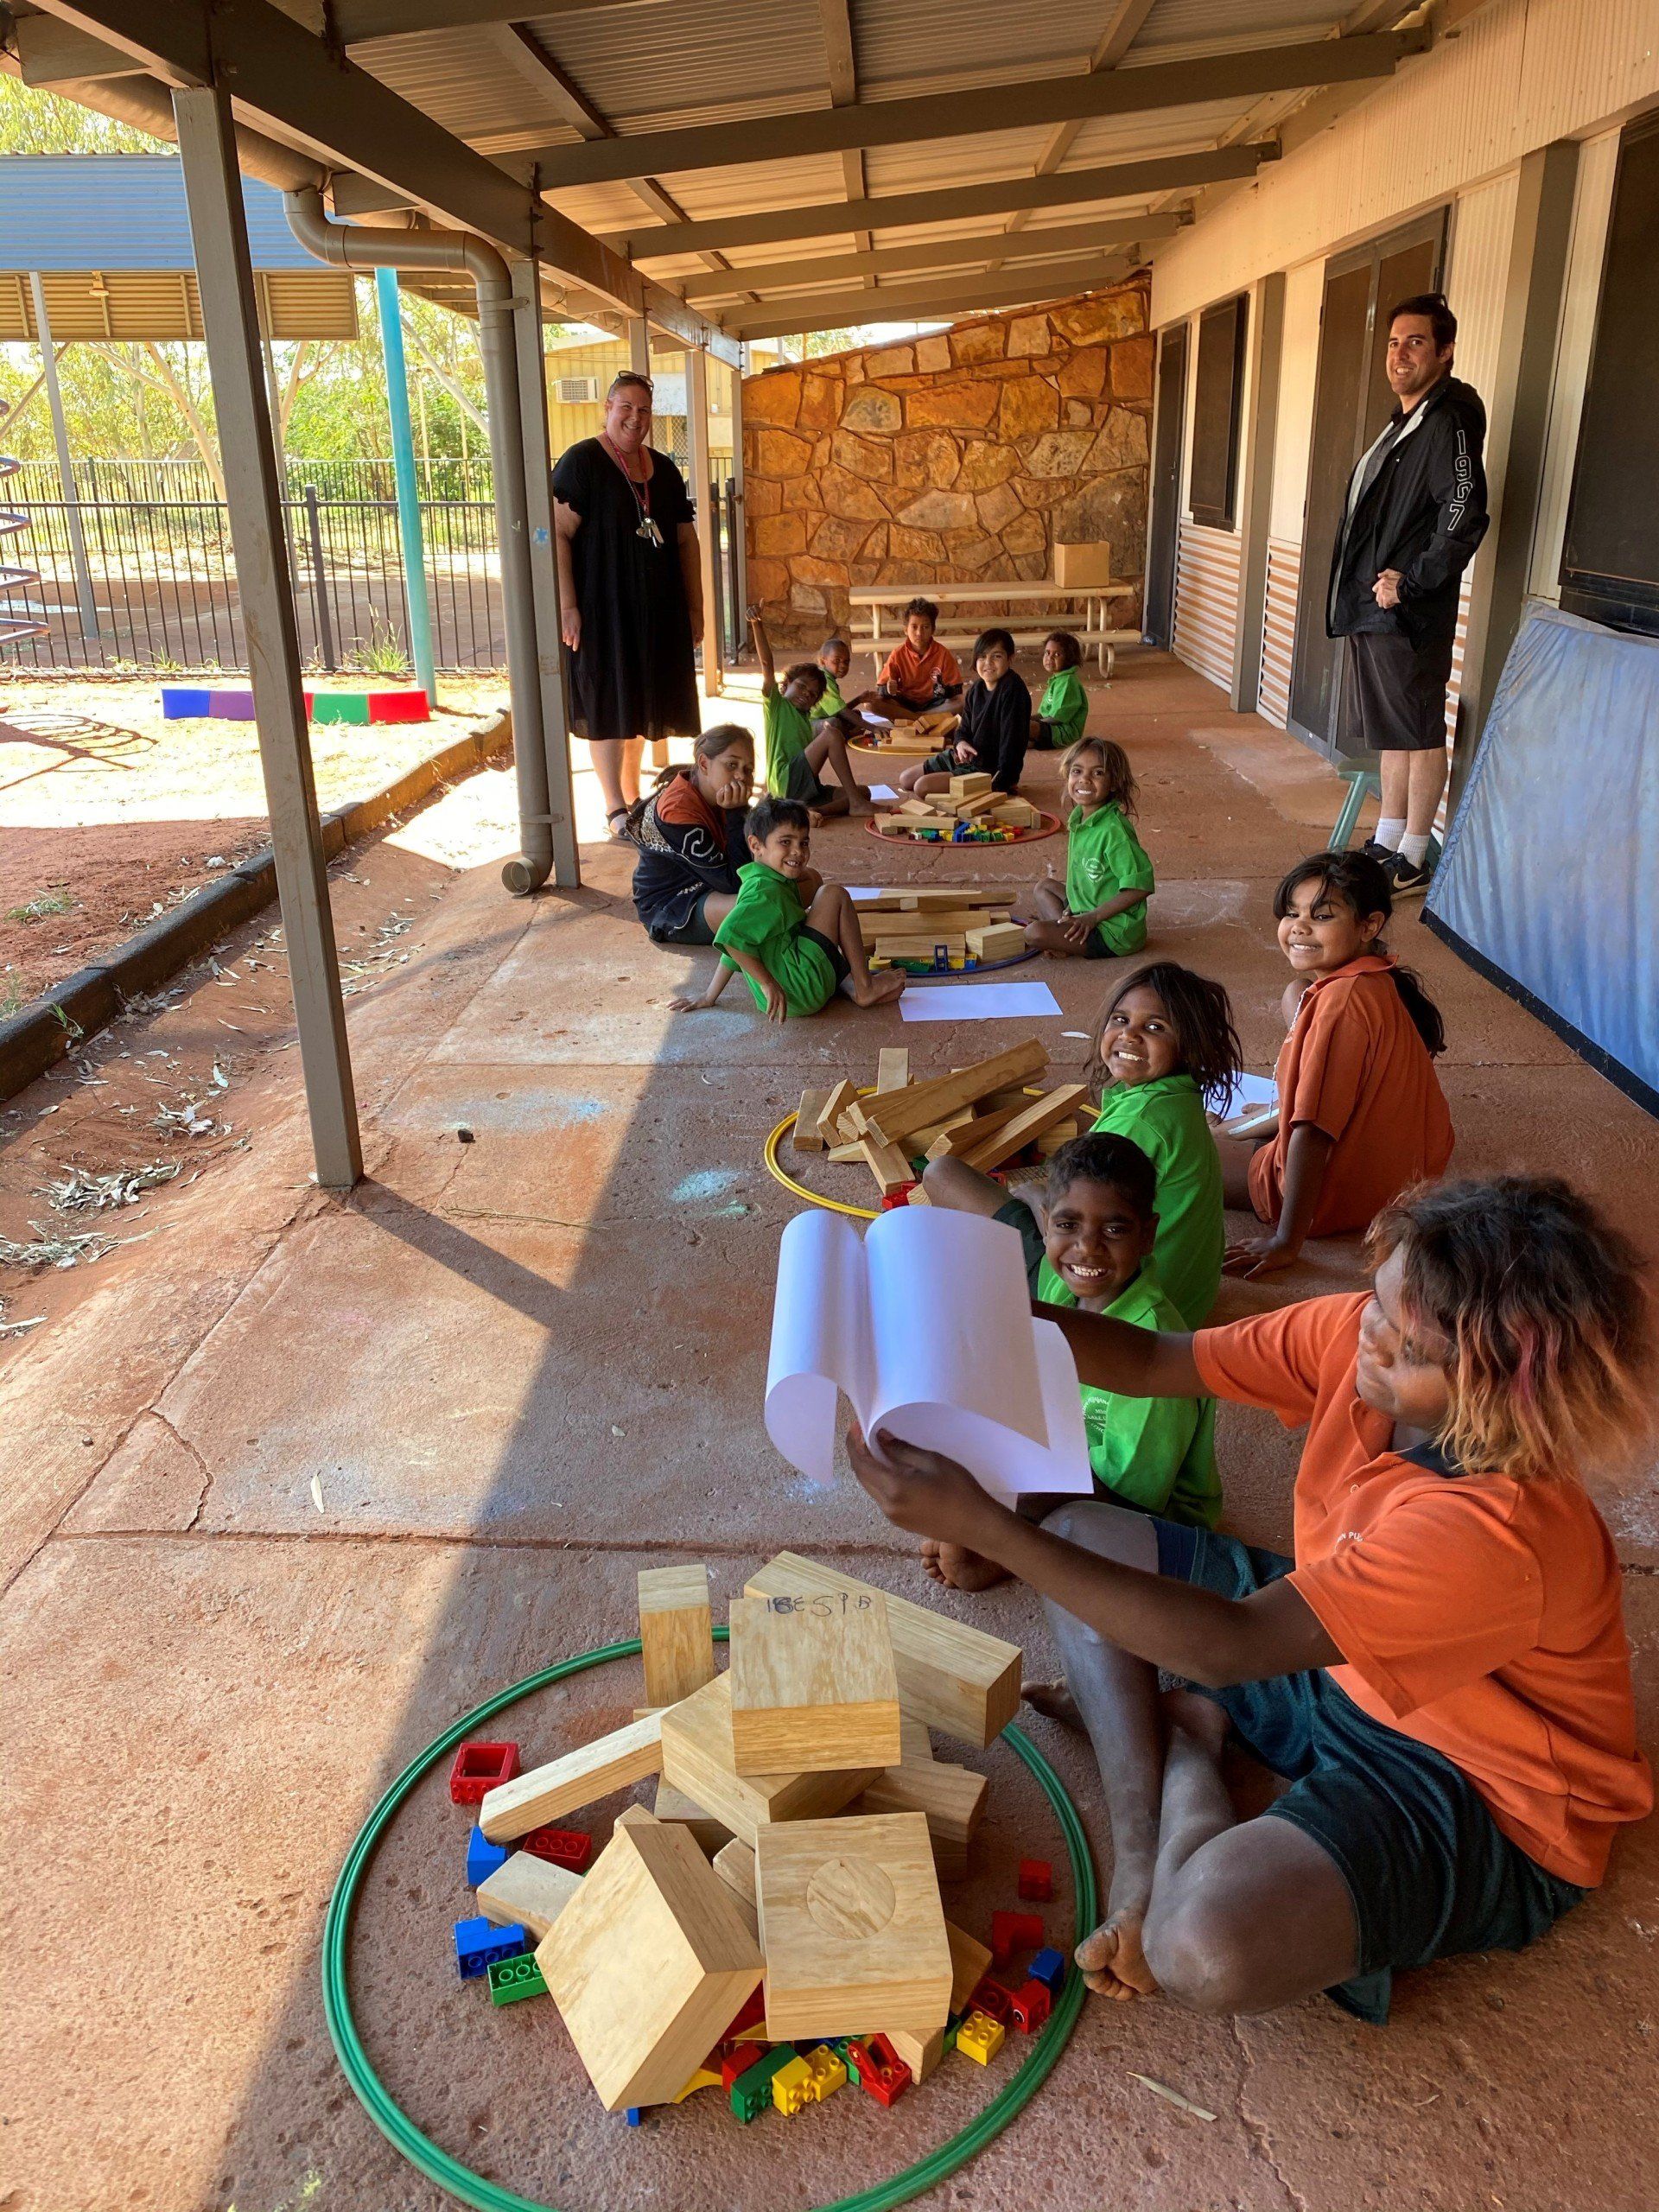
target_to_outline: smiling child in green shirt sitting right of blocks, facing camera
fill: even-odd
[[[1146,945],[1152,863],[1130,827],[1135,774],[1110,737],[1084,737],[1062,757],[1066,779],[1066,880],[1053,867],[1013,902],[1026,945],[1082,960],[1117,960]]]

